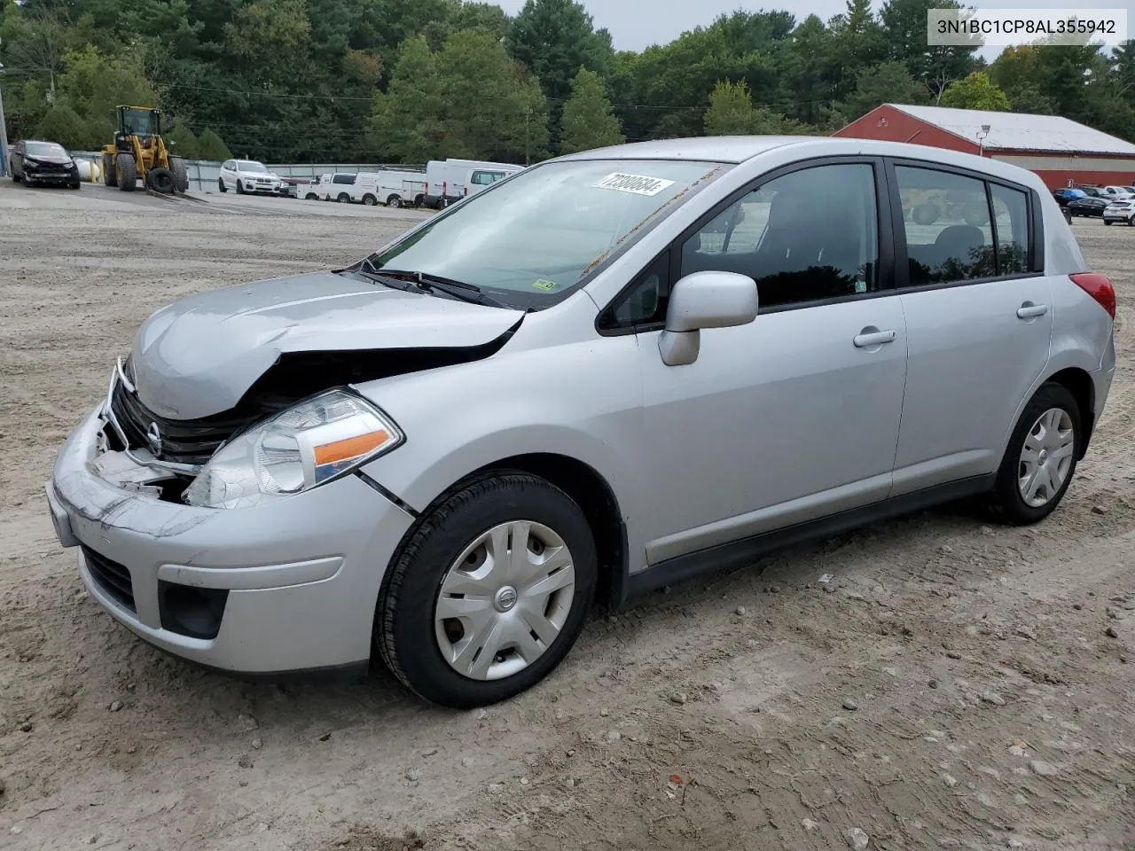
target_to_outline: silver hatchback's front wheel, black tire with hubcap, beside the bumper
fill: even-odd
[[[394,558],[375,640],[427,700],[469,709],[535,685],[583,627],[598,573],[580,507],[502,472],[451,491]]]

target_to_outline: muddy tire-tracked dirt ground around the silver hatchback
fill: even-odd
[[[473,713],[235,682],[103,614],[42,489],[138,323],[415,216],[0,184],[0,848],[1135,849],[1135,228],[1075,226],[1119,369],[1033,529],[935,511],[675,588]]]

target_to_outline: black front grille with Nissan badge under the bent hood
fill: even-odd
[[[121,381],[117,381],[110,397],[110,407],[126,433],[128,448],[149,448],[146,432],[151,424],[155,424],[161,435],[161,450],[158,453],[160,461],[204,464],[233,435],[284,407],[284,403],[241,405],[197,420],[171,420],[155,414],[142,404],[136,394],[127,390]]]

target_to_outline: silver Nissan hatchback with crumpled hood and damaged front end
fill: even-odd
[[[91,596],[267,676],[375,650],[452,707],[592,601],[982,496],[1060,502],[1115,292],[1019,168],[679,140],[528,168],[350,268],[151,317],[49,482]]]

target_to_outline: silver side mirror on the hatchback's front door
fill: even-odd
[[[674,284],[658,352],[667,366],[698,359],[703,328],[731,328],[757,318],[757,285],[735,272],[693,272]]]

